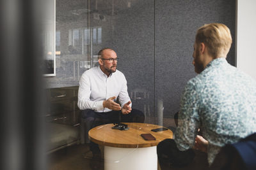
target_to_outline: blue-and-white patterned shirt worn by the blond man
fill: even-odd
[[[198,128],[209,141],[210,165],[222,146],[256,132],[256,81],[225,58],[212,60],[188,81],[175,133],[179,150],[194,146]]]

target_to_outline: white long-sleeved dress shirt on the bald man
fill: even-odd
[[[103,107],[103,101],[113,96],[118,97],[121,107],[131,101],[127,92],[127,81],[122,72],[116,70],[108,77],[101,71],[100,66],[96,66],[83,73],[79,81],[77,102],[80,110],[111,111]]]

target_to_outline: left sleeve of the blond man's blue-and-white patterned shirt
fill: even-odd
[[[179,125],[175,132],[175,143],[179,150],[188,150],[195,145],[200,126],[198,115],[200,99],[193,81],[189,81],[180,101]]]

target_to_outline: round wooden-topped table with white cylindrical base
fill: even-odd
[[[124,123],[129,130],[111,129],[113,124],[100,125],[89,131],[90,140],[104,146],[104,169],[157,169],[156,146],[172,131],[152,132],[162,126],[141,123]],[[145,141],[140,135],[150,133],[156,140]]]

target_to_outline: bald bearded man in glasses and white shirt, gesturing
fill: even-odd
[[[103,48],[98,56],[99,66],[85,71],[79,81],[77,105],[87,129],[115,122],[144,122],[144,114],[131,108],[127,81],[116,69],[116,52]],[[100,157],[99,146],[92,141],[90,150],[93,157]]]

